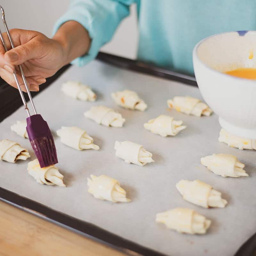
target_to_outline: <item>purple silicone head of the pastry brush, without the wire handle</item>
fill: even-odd
[[[52,133],[41,115],[36,114],[27,118],[27,132],[41,168],[57,164],[58,158]]]

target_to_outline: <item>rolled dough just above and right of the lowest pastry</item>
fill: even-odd
[[[176,184],[176,188],[183,196],[183,199],[205,208],[225,207],[228,203],[225,199],[221,198],[219,191],[212,189],[212,186],[200,180],[180,180]]]

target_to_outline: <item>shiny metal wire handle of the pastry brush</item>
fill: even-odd
[[[4,23],[4,28],[5,28],[5,30],[6,30],[7,36],[8,36],[8,38],[9,38],[10,44],[11,44],[12,49],[13,49],[15,46],[14,46],[14,44],[13,44],[10,31],[9,31],[9,29],[8,29],[8,27],[7,27],[7,24],[6,24],[6,21],[5,21],[4,9],[3,9],[2,6],[0,6],[0,10],[1,10],[1,12],[2,12],[2,20],[3,20],[3,23]],[[2,44],[3,44],[3,46],[4,46],[5,52],[7,52],[8,49],[7,49],[6,44],[5,44],[5,42],[4,42],[4,37],[3,37],[3,35],[2,35],[1,29],[0,29],[0,39],[1,39]],[[34,110],[34,112],[35,112],[35,115],[36,115],[36,108],[35,108],[35,106],[34,106],[34,102],[33,102],[33,100],[32,100],[32,96],[31,96],[30,91],[29,91],[29,88],[28,88],[28,84],[27,84],[27,81],[26,81],[26,77],[25,77],[25,75],[24,75],[24,73],[23,73],[23,70],[22,70],[22,68],[21,68],[21,65],[18,65],[18,67],[19,67],[19,70],[20,70],[20,74],[21,74],[21,76],[22,76],[23,83],[24,83],[24,85],[25,85],[25,87],[26,87],[26,90],[27,90],[27,93],[28,93],[28,98],[29,98],[29,100],[30,100],[30,102],[31,102],[32,108],[33,108],[33,110]],[[18,81],[18,78],[17,78],[17,73],[16,73],[15,70],[13,71],[13,76],[14,76],[15,82],[16,82],[16,84],[17,84],[17,88],[18,88],[18,90],[19,90],[19,92],[20,92],[21,100],[22,100],[22,102],[23,102],[23,104],[24,104],[24,106],[25,106],[25,109],[26,109],[26,111],[27,111],[27,113],[28,113],[28,116],[30,116],[29,109],[28,109],[28,106],[27,106],[27,102],[26,102],[25,97],[24,97],[24,95],[23,95],[23,92],[22,92],[22,90],[21,90],[21,88],[20,88],[20,84],[19,84],[19,81]]]

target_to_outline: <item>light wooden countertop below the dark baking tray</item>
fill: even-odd
[[[0,201],[1,256],[124,256],[104,244]]]

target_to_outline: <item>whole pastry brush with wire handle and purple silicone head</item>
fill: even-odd
[[[14,44],[13,44],[12,37],[10,35],[9,29],[8,29],[6,21],[5,21],[4,9],[1,6],[0,6],[0,11],[2,12],[2,20],[4,23],[4,28],[6,30],[6,34],[9,38],[11,47],[13,49]],[[8,49],[6,47],[1,30],[0,30],[0,39],[4,46],[5,52],[7,52]],[[30,94],[30,91],[28,88],[28,84],[26,81],[26,77],[23,73],[21,65],[18,65],[18,70],[19,70],[20,75],[22,76],[23,83],[24,83],[27,93],[28,93],[28,98],[31,102],[32,108],[35,113],[34,115],[30,115],[30,113],[29,113],[27,102],[24,98],[23,92],[20,88],[20,84],[19,84],[19,81],[17,78],[17,72],[16,72],[16,70],[14,70],[13,76],[14,76],[15,82],[17,84],[17,88],[20,92],[21,100],[25,106],[25,110],[28,113],[27,132],[28,132],[28,138],[30,140],[31,146],[36,154],[36,157],[37,157],[41,167],[46,167],[46,166],[49,166],[52,164],[57,164],[58,163],[57,152],[56,152],[56,148],[55,148],[51,130],[50,130],[48,124],[46,123],[46,121],[44,121],[43,117],[40,114],[36,113],[36,108],[35,108],[34,102],[32,100],[32,97],[31,97],[31,94]]]

